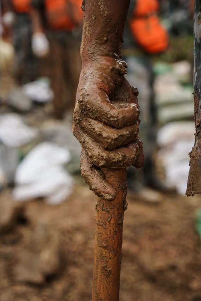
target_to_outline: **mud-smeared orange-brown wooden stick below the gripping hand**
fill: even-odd
[[[93,301],[118,301],[121,247],[126,203],[126,169],[104,169],[107,181],[118,191],[114,201],[98,198],[93,271]]]

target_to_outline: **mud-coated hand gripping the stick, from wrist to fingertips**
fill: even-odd
[[[73,134],[82,145],[81,174],[90,189],[113,200],[116,191],[101,167],[143,165],[137,95],[124,78],[123,60],[99,57],[82,67],[74,110]]]

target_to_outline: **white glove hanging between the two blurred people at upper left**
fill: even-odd
[[[50,44],[44,33],[34,33],[32,36],[32,50],[39,58],[49,53]]]

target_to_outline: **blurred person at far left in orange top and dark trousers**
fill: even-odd
[[[18,84],[32,81],[40,75],[40,62],[31,47],[31,0],[2,0],[3,25],[12,28],[15,50],[14,78]]]

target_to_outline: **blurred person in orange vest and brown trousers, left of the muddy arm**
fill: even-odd
[[[80,43],[82,0],[32,0],[34,34],[32,49],[43,56],[42,45],[50,42],[50,78],[54,91],[54,114],[64,117],[73,110],[81,71]],[[44,16],[44,18],[41,18]]]

